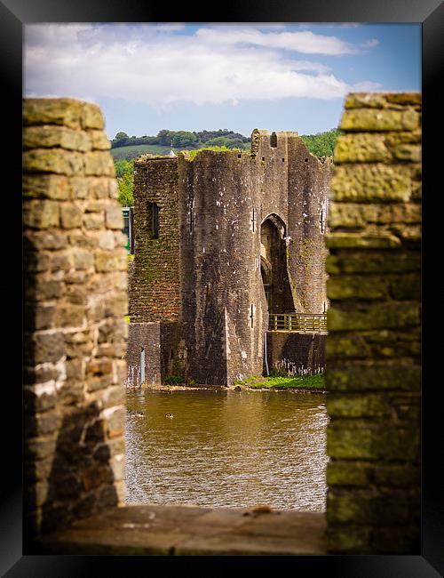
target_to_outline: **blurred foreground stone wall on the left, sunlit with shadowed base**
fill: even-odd
[[[127,257],[99,107],[23,106],[28,538],[123,501]]]

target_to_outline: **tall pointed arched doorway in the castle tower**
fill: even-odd
[[[286,225],[271,214],[260,228],[260,272],[269,313],[294,310],[287,269]]]

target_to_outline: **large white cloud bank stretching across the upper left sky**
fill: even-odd
[[[288,97],[342,98],[351,89],[324,64],[291,52],[341,55],[361,51],[311,31],[181,24],[49,24],[25,27],[26,93],[103,97],[168,108],[180,100],[237,103]],[[92,97],[91,97],[92,95]]]

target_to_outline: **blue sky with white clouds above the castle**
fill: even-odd
[[[27,24],[24,94],[96,102],[110,139],[337,127],[348,92],[421,91],[421,25]]]

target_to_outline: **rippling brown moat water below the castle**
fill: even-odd
[[[323,511],[328,420],[322,394],[129,389],[125,500]]]

